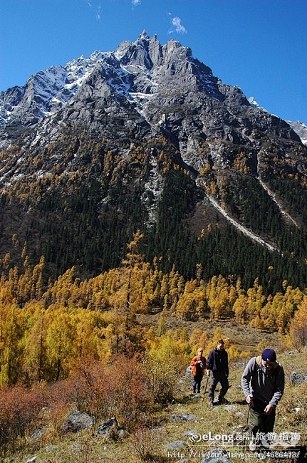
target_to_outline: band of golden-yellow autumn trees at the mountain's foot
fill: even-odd
[[[196,278],[184,279],[175,267],[162,271],[160,259],[152,266],[145,261],[143,238],[137,231],[120,266],[91,279],[80,279],[71,268],[56,281],[46,281],[44,258],[32,266],[26,249],[24,271],[11,266],[9,255],[1,259],[1,384],[67,378],[80,358],[144,353],[167,338],[165,320],[170,316],[191,321],[228,318],[291,335],[296,345],[306,343],[306,290],[283,281],[283,291],[266,296],[258,279],[247,290],[231,276],[205,282],[201,264]],[[157,328],[137,323],[137,314],[157,312]],[[180,353],[189,355],[194,344],[188,333],[182,330],[176,336]],[[172,333],[172,339],[176,336]],[[208,335],[198,333],[198,341],[201,336],[207,342]],[[233,355],[239,354],[234,350]]]

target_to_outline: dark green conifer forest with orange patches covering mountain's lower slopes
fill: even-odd
[[[76,140],[78,158],[72,154]],[[128,140],[121,142],[123,151]],[[21,155],[18,143],[3,152],[4,170],[12,170]],[[61,164],[51,162],[60,155]],[[304,175],[288,172],[288,166],[275,157],[266,160],[262,177],[276,201],[246,167],[248,155],[238,151],[233,156],[234,167],[229,172],[214,172],[207,164],[196,185],[194,171],[187,169],[163,137],[146,145],[135,142],[129,157],[123,158],[111,142],[88,141],[83,132],[78,137],[62,135],[46,150],[31,153],[31,167],[4,187],[0,256],[9,253],[11,266],[22,271],[21,255],[26,249],[31,265],[43,256],[46,279],[54,281],[72,267],[86,279],[118,267],[127,244],[140,230],[145,261],[152,266],[159,259],[166,273],[175,266],[184,279],[192,279],[202,266],[204,281],[222,275],[240,279],[247,290],[258,279],[266,296],[281,291],[283,281],[304,291]],[[303,152],[300,159],[303,162]],[[146,189],[153,162],[162,185],[157,191]],[[47,166],[48,173],[38,175]],[[230,217],[261,236],[271,249],[229,224],[206,194],[214,196]]]

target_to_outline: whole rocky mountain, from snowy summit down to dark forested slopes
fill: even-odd
[[[118,264],[131,230],[143,229],[148,259],[166,246],[167,262],[189,261],[189,275],[208,259],[214,274],[241,275],[235,246],[227,257],[206,257],[212,244],[177,253],[187,220],[193,237],[212,243],[229,224],[268,252],[298,256],[306,271],[307,148],[286,121],[173,39],[161,44],[143,31],[2,92],[0,148],[0,255],[16,254],[16,233],[56,274],[76,262],[94,272]],[[169,217],[177,211],[169,197],[180,218]],[[269,258],[259,259],[266,272]]]

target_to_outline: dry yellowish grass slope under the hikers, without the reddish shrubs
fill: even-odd
[[[248,360],[248,359],[246,359]],[[275,432],[298,432],[301,434],[300,444],[307,441],[307,383],[293,386],[289,383],[289,375],[293,370],[306,373],[306,350],[303,352],[281,353],[279,361],[282,363],[286,373],[286,390],[283,399],[276,412]],[[243,363],[231,365],[229,382],[231,388],[227,393],[227,399],[231,402],[233,410],[228,410],[227,405],[216,406],[212,410],[207,404],[207,394],[204,394],[206,378],[202,386],[200,396],[192,395],[192,379],[183,376],[180,380],[176,400],[164,409],[157,410],[155,415],[149,417],[152,422],[152,430],[142,429],[137,435],[126,435],[117,441],[103,442],[103,439],[95,437],[93,431],[80,432],[76,435],[65,435],[63,437],[48,440],[47,437],[36,444],[26,442],[24,451],[14,457],[7,457],[2,463],[26,462],[31,456],[36,455],[36,463],[137,463],[147,462],[182,462],[181,453],[185,455],[185,462],[200,462],[202,457],[194,452],[207,451],[207,447],[199,447],[198,442],[191,442],[184,432],[193,430],[197,435],[226,434],[233,435],[241,432],[246,424],[247,405],[242,403],[244,399],[239,388]],[[204,400],[203,400],[204,398]],[[300,410],[294,410],[298,407]],[[173,421],[172,415],[192,414],[193,421]],[[185,447],[175,450],[175,455],[167,454],[165,444],[182,440]],[[249,449],[244,447],[227,447],[233,453],[244,453]],[[177,454],[179,452],[179,454]],[[147,459],[140,459],[140,454],[147,454]],[[232,462],[244,461],[241,457],[231,457]],[[29,460],[31,461],[31,460]],[[250,463],[259,461],[254,457],[248,458]],[[274,460],[276,461],[276,460]],[[283,460],[284,461],[284,460]]]

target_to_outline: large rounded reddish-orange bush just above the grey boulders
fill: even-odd
[[[120,426],[135,429],[153,404],[144,368],[136,358],[125,355],[113,356],[108,365],[99,360],[83,360],[65,384],[62,400],[65,397],[71,406],[90,414],[96,424],[115,417]]]

